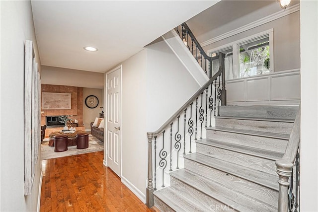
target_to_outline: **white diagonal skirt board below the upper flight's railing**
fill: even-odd
[[[198,84],[203,86],[209,80],[209,77],[199,66],[175,30],[173,29],[161,37]]]

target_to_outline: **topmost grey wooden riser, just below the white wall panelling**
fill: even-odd
[[[220,107],[221,116],[295,119],[298,106],[224,106]]]

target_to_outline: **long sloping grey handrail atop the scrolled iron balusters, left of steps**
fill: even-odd
[[[224,54],[220,53],[220,60],[224,60]],[[216,72],[210,79],[207,81],[192,97],[184,103],[177,112],[175,112],[157,131],[149,132],[147,134],[153,134],[153,136],[158,136],[160,133],[164,131],[164,129],[170,125],[190,104],[193,102],[218,76],[221,75],[223,71],[222,67],[223,63],[220,63],[219,71]]]

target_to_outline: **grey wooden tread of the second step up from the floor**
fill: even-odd
[[[196,174],[186,169],[179,169],[177,171],[173,171],[170,173],[170,176],[193,187],[194,189],[204,193],[205,195],[222,202],[227,206],[231,206],[232,208],[238,211],[277,211],[277,208],[274,208],[264,203],[257,202],[257,200],[245,196],[244,194],[241,194],[239,191],[233,191],[230,188],[225,188],[218,182],[207,179],[199,174]],[[188,198],[195,197],[189,196]]]

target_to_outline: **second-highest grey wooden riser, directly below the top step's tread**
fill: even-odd
[[[290,134],[294,123],[216,118],[217,127]]]

